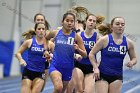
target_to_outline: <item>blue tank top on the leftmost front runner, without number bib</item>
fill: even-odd
[[[43,48],[43,44],[38,45],[35,37],[33,37],[31,47],[28,49],[27,69],[44,72],[46,58],[43,57]]]

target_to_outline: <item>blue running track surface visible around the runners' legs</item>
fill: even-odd
[[[21,77],[0,79],[0,93],[20,93]],[[52,93],[53,84],[48,79],[42,93]],[[124,71],[122,93],[140,93],[140,72],[133,70]]]

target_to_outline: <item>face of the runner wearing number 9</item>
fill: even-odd
[[[93,15],[90,15],[86,21],[86,28],[87,29],[94,29],[96,25],[96,17]]]

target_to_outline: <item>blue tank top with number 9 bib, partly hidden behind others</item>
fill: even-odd
[[[87,54],[89,54],[89,52],[91,51],[92,47],[94,46],[94,44],[96,43],[96,38],[97,38],[97,33],[94,32],[93,36],[91,38],[86,38],[84,35],[84,32],[81,32],[81,37],[83,39],[83,43],[85,46],[85,49],[87,51]],[[86,58],[83,58],[80,61],[81,64],[87,64],[87,65],[91,65],[91,62],[89,60],[89,57],[87,56]]]

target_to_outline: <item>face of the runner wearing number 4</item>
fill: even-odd
[[[112,31],[114,33],[122,34],[125,29],[125,21],[123,18],[116,18],[112,24]]]

